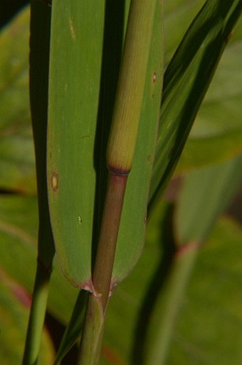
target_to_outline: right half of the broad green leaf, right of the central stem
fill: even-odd
[[[137,145],[132,170],[127,181],[117,240],[112,274],[114,282],[121,282],[127,277],[137,263],[144,245],[147,199],[154,161],[162,88],[162,19],[160,1],[157,1]]]

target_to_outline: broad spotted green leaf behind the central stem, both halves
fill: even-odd
[[[76,6],[81,6],[80,11]],[[104,43],[100,89],[104,26],[102,6],[100,3],[97,7],[95,1],[89,1],[85,5],[75,4],[73,1],[68,7],[66,4],[55,5],[53,2],[48,126],[51,222],[58,260],[65,277],[75,286],[87,288],[90,287],[92,255],[95,251],[102,210],[106,180],[105,150],[119,71],[117,66],[122,49],[120,34],[123,34],[124,22],[122,7],[121,13],[115,11],[120,5],[107,6],[107,39],[105,38]],[[93,19],[93,16],[95,26],[90,27],[90,19]],[[116,19],[115,24],[121,22],[118,29],[113,23],[113,16]],[[140,257],[144,241],[147,187],[154,158],[154,138],[162,82],[160,21],[157,2],[156,28],[149,57],[141,128],[138,132],[135,161],[127,184],[127,196],[120,223],[113,271],[114,282],[120,282],[130,272]],[[116,43],[117,63],[113,60],[113,48],[110,48],[112,29],[120,38]],[[66,44],[65,53],[63,44]],[[68,60],[65,54],[68,55]],[[70,61],[71,65],[66,68]],[[107,93],[108,86],[112,95],[110,91]]]

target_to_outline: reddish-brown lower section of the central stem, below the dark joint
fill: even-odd
[[[110,173],[78,364],[98,364],[127,175]]]

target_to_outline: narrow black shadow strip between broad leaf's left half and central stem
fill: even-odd
[[[125,1],[107,0],[105,5],[105,29],[102,48],[102,72],[98,106],[98,122],[95,134],[94,167],[96,171],[95,215],[93,217],[94,264],[100,230],[100,218],[107,184],[106,150],[115,103],[117,79],[122,55]]]

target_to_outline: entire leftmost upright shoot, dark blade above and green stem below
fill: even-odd
[[[23,364],[37,364],[46,314],[48,285],[55,248],[48,213],[46,186],[46,130],[48,101],[48,55],[51,9],[42,1],[31,1],[30,93],[38,186],[38,263],[33,302],[28,322]]]

